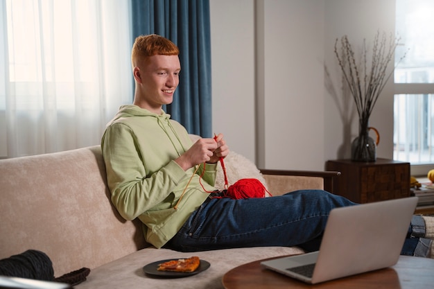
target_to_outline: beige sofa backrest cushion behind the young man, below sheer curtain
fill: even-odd
[[[2,159],[0,188],[0,259],[37,249],[60,277],[145,246],[110,202],[100,146]]]

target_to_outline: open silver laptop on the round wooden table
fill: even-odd
[[[398,262],[416,205],[411,197],[333,209],[319,251],[261,264],[311,284],[390,267]]]

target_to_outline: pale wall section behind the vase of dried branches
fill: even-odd
[[[372,44],[377,31],[388,34],[394,33],[395,1],[327,0],[325,3],[324,65],[332,75],[331,82],[338,93],[339,103],[343,108],[338,110],[331,93],[325,89],[324,130],[326,137],[324,157],[327,159],[349,158],[349,146],[358,134],[358,116],[356,112],[351,114],[351,108],[354,107],[353,98],[348,94],[342,94],[340,68],[333,52],[335,40],[347,35],[351,44],[360,48],[364,38],[367,44]],[[372,49],[372,46],[368,47],[368,49]],[[390,69],[392,69],[392,65],[391,63]],[[327,78],[326,81],[328,81]],[[380,133],[377,157],[388,159],[393,157],[393,93],[393,78],[391,78],[376,103],[370,118],[370,125],[379,130]],[[346,105],[344,105],[345,101],[347,101]],[[344,123],[347,121],[342,121],[340,119],[341,115],[352,120],[351,125],[349,125],[351,132],[348,130],[344,132],[344,128],[347,126]],[[371,137],[375,137],[373,133]],[[339,149],[337,150],[337,148]]]

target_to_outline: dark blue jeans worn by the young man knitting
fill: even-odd
[[[354,205],[339,195],[302,190],[272,198],[206,200],[164,246],[181,252],[259,246],[298,246],[306,252],[320,247],[331,209]],[[413,255],[415,238],[403,247]]]

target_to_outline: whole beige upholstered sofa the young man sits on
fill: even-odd
[[[228,157],[226,166],[233,165],[237,164],[231,164]],[[324,185],[330,189],[337,175],[284,173],[288,172],[263,170],[274,195]],[[0,259],[37,249],[50,257],[55,277],[90,268],[87,281],[75,288],[223,288],[223,274],[238,265],[302,253],[297,247],[198,252],[195,255],[211,263],[205,272],[181,279],[147,276],[142,268],[148,263],[192,254],[147,246],[138,220],[125,221],[119,216],[110,202],[100,146],[2,159],[0,190]]]

